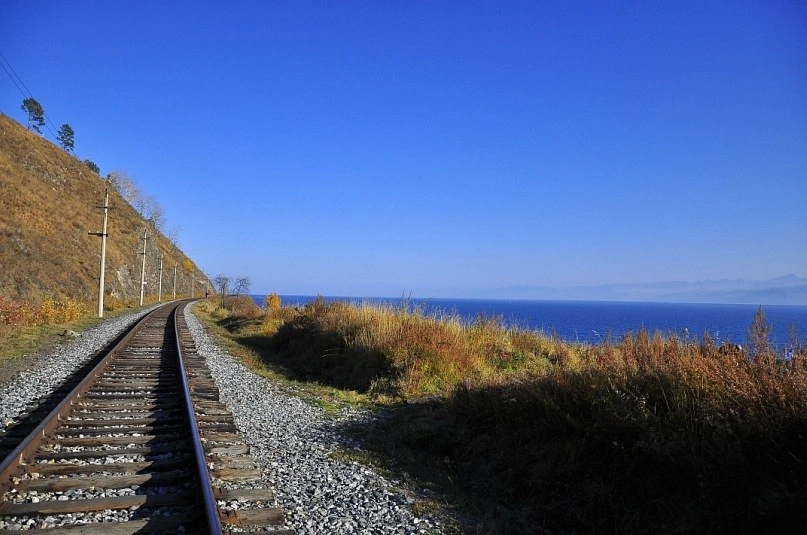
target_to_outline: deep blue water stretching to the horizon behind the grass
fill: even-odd
[[[264,296],[253,296],[263,306]],[[303,306],[314,297],[281,296],[284,306]],[[327,297],[328,301],[385,303],[402,306],[396,298]],[[748,328],[756,305],[718,305],[684,303],[632,303],[603,301],[519,301],[492,299],[410,299],[409,305],[421,306],[427,315],[456,315],[473,322],[480,314],[496,316],[509,327],[556,333],[571,342],[599,343],[610,334],[613,340],[644,327],[651,334],[675,333],[681,338],[702,339],[708,332],[719,342],[747,343]],[[773,328],[771,341],[784,348],[789,341],[791,323],[799,340],[807,340],[807,306],[770,305],[764,307]]]

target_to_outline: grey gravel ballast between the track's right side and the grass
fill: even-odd
[[[384,477],[330,453],[350,440],[332,417],[285,393],[215,345],[189,307],[185,319],[207,359],[221,400],[298,534],[442,533],[440,524],[412,512],[412,500]],[[362,418],[346,411],[340,421]]]

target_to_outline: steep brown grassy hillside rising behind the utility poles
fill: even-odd
[[[146,294],[157,295],[162,253],[163,295],[190,294],[191,273],[209,284],[194,262],[76,157],[0,114],[0,296],[37,302],[53,297],[95,301],[109,189],[106,294],[140,297],[143,230],[147,243]],[[154,239],[156,235],[156,240]]]

